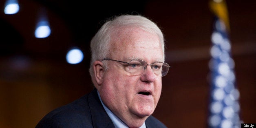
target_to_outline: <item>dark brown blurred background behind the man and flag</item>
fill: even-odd
[[[6,14],[7,1],[0,1],[0,128],[33,128],[51,110],[89,93],[90,40],[107,18],[120,14],[146,16],[166,38],[172,68],[153,115],[168,127],[207,127],[214,19],[209,1],[18,0],[18,13]],[[239,116],[256,123],[256,1],[226,3]],[[36,38],[42,19],[51,31]],[[83,55],[77,64],[66,60],[74,48]]]

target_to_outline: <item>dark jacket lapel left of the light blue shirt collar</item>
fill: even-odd
[[[99,100],[96,88],[88,95],[88,104],[94,128],[115,128]]]

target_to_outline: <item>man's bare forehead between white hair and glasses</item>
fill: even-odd
[[[162,46],[155,33],[135,28],[123,27],[117,29],[111,36],[111,57],[163,59]]]

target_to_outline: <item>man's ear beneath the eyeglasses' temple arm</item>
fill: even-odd
[[[93,71],[94,71],[96,83],[98,86],[100,86],[103,82],[103,77],[105,72],[103,63],[99,60],[96,60],[93,63]]]

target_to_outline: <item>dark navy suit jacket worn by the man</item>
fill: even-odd
[[[147,128],[166,128],[153,116],[145,121]],[[104,110],[97,90],[48,113],[35,128],[115,128]]]

